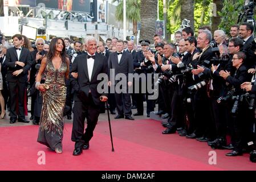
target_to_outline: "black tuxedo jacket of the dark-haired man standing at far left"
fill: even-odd
[[[7,49],[6,52],[6,65],[8,67],[7,75],[6,75],[6,81],[10,82],[26,82],[27,81],[27,71],[30,70],[32,59],[30,55],[29,49],[22,48],[21,49],[21,55],[18,55],[15,47]],[[25,67],[21,67],[19,65],[15,65],[15,61],[21,61],[25,63]],[[18,76],[13,76],[13,72],[23,69],[23,72],[19,74]]]

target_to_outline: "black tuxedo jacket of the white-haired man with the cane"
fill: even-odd
[[[70,73],[78,73],[78,78],[74,78],[70,74],[70,82],[72,88],[75,90],[74,101],[87,102],[89,91],[91,90],[92,100],[95,105],[100,105],[100,96],[107,94],[100,94],[97,92],[97,85],[101,80],[97,80],[100,73],[108,75],[107,58],[99,53],[95,53],[94,68],[92,69],[91,81],[88,75],[87,54],[76,56],[72,63],[72,70]]]

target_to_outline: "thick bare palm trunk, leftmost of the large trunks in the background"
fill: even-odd
[[[140,3],[140,39],[149,39],[153,43],[156,34],[155,22],[157,18],[157,1],[143,0]]]

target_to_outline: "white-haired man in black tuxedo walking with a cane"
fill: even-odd
[[[106,94],[100,94],[97,85],[97,75],[108,74],[107,58],[97,53],[97,40],[88,36],[86,39],[87,54],[77,56],[72,64],[71,73],[78,73],[78,78],[70,74],[70,82],[75,90],[74,120],[72,128],[72,141],[75,142],[73,155],[82,154],[87,150],[93,136],[99,114],[100,101],[107,101]],[[87,128],[84,133],[84,120],[87,118]]]

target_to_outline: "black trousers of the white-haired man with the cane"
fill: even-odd
[[[100,114],[100,107],[96,106],[89,95],[89,102],[75,101],[73,113],[74,121],[71,140],[75,148],[82,148],[93,137],[93,132]],[[84,132],[84,121],[87,119],[87,128]]]

